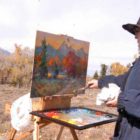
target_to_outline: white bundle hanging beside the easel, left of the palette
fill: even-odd
[[[30,93],[15,100],[11,106],[11,124],[17,131],[27,128],[31,122],[32,101]]]

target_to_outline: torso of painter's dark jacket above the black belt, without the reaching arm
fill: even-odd
[[[125,90],[118,97],[118,111],[140,119],[140,60],[132,69]]]

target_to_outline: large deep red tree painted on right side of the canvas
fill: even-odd
[[[63,66],[68,76],[73,78],[80,75],[80,58],[72,51],[63,58]]]

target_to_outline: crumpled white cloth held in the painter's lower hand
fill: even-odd
[[[101,92],[97,95],[96,105],[102,105],[105,102],[118,97],[120,92],[120,87],[118,87],[116,84],[110,83],[108,88],[102,88]]]

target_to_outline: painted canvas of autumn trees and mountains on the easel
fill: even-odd
[[[89,42],[37,31],[31,97],[74,94],[85,86]]]

